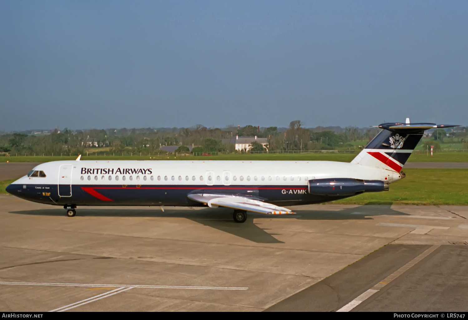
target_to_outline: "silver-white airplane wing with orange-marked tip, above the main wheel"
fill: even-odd
[[[243,196],[191,194],[188,198],[207,204],[210,208],[227,207],[265,214],[294,214],[291,210]]]

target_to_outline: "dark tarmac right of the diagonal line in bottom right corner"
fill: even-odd
[[[440,246],[352,311],[467,312],[468,245]]]

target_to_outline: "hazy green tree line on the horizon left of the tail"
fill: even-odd
[[[307,129],[300,120],[292,121],[286,130],[278,131],[278,127],[259,128],[253,125],[245,127],[206,128],[197,125],[193,128],[174,128],[170,130],[140,129],[107,129],[63,131],[55,130],[48,135],[8,133],[0,135],[0,153],[10,155],[78,155],[88,152],[105,151],[110,154],[155,154],[161,153],[161,146],[176,145],[177,152],[190,152],[187,146],[193,146],[191,152],[234,152],[233,144],[224,144],[222,139],[235,136],[257,136],[267,139],[269,151],[276,150],[333,150],[336,148],[355,150],[362,145],[352,143],[362,141],[363,144],[374,138],[380,131],[378,128],[359,129],[347,127],[339,132],[322,130],[324,128]],[[446,138],[446,132],[438,129],[434,133],[435,140]],[[465,133],[466,134],[466,133]],[[265,150],[259,143],[253,143],[253,151]]]

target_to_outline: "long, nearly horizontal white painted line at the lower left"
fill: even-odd
[[[11,285],[46,285],[61,287],[112,287],[112,288],[147,288],[147,289],[200,289],[200,290],[248,290],[248,287],[200,287],[190,285],[145,285],[145,284],[60,284],[50,282],[6,282]]]

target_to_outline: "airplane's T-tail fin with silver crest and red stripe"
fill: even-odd
[[[400,172],[409,156],[416,148],[424,131],[433,128],[457,127],[449,124],[406,124],[385,123],[377,127],[383,129],[371,142],[351,161],[369,167]]]

